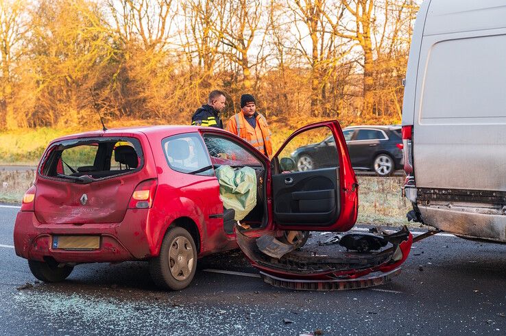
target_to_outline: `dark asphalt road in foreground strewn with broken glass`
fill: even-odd
[[[11,247],[17,211],[0,205],[0,335],[506,334],[505,245],[430,237],[391,283],[344,292],[271,287],[239,252],[201,259],[180,292],[156,289],[141,262],[80,265],[45,284]]]

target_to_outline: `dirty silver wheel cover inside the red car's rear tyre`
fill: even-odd
[[[169,248],[169,268],[174,279],[188,279],[193,269],[193,248],[186,237],[177,237]]]

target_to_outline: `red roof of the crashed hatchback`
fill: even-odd
[[[149,136],[151,134],[163,133],[165,136],[180,134],[180,133],[191,133],[196,132],[199,129],[204,127],[199,126],[189,126],[189,125],[156,125],[156,126],[136,126],[136,127],[121,127],[115,129],[107,129],[106,131],[96,130],[96,131],[87,131],[82,133],[75,133],[71,135],[65,135],[60,138],[53,140],[52,142],[58,142],[62,140],[71,140],[77,138],[93,138],[93,137],[102,137],[102,136],[117,136],[117,135],[125,135],[128,134],[137,134],[141,135],[144,133]],[[214,130],[214,129],[213,129]],[[216,129],[219,131],[223,131],[221,129]]]

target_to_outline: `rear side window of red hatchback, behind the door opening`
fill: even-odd
[[[173,135],[162,140],[167,164],[177,172],[214,175],[213,166],[198,133]]]

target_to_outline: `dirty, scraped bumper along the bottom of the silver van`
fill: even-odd
[[[475,212],[476,208],[444,209],[421,204],[418,209],[424,224],[431,227],[468,238],[506,243],[506,215],[498,211],[494,214],[491,209]]]

